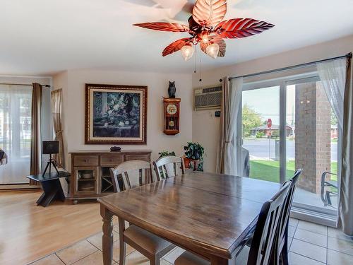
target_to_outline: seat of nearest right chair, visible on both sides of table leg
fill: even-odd
[[[245,246],[243,249],[241,249],[241,252],[237,256],[237,262],[236,264],[238,265],[246,265],[248,262],[248,257],[249,257],[249,251],[250,247]],[[179,257],[174,262],[175,265],[210,265],[210,261],[207,261],[205,259],[202,259],[201,257],[198,257],[190,252],[184,252],[181,254]]]

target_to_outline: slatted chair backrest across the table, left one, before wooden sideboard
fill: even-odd
[[[152,167],[150,162],[143,160],[130,160],[111,168],[110,174],[114,192],[120,192],[119,176],[123,179],[124,189],[132,189],[152,181]]]

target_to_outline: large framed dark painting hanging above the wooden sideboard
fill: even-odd
[[[147,86],[85,85],[85,144],[145,145]]]

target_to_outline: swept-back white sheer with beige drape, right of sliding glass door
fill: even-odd
[[[339,225],[353,235],[353,90],[350,58],[317,64],[318,74],[342,131],[342,166],[340,171]]]

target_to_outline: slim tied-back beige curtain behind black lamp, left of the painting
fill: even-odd
[[[59,141],[59,153],[54,154],[53,158],[56,165],[65,168],[65,153],[64,153],[64,138],[63,129],[61,125],[61,105],[62,105],[62,91],[61,89],[52,91],[52,115],[54,122],[55,140]]]

